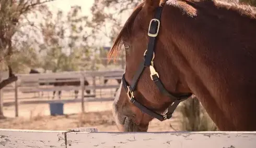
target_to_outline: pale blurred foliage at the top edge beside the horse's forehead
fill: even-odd
[[[91,26],[93,31],[109,37],[112,44],[122,28],[124,15],[141,2],[142,0],[95,0],[91,7]],[[108,29],[106,29],[106,26],[108,26]]]

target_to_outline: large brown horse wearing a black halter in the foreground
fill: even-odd
[[[255,12],[208,0],[137,6],[109,55],[125,48],[125,74],[113,103],[119,130],[147,131],[153,118],[170,118],[194,94],[219,130],[255,131]]]

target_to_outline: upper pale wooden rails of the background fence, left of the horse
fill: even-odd
[[[96,84],[96,77],[106,79],[121,79],[124,70],[114,71],[83,71],[83,72],[63,72],[63,73],[42,73],[42,74],[18,74],[17,86],[10,84],[3,89],[4,92],[14,91],[17,87],[22,93],[41,92],[41,91],[58,91],[58,90],[81,90],[82,81],[87,80],[89,85],[85,87],[86,90],[96,89],[111,89],[118,88],[119,85],[99,85]],[[52,86],[49,83],[67,83],[80,82],[80,85],[75,86]],[[44,83],[45,85],[40,85]],[[82,96],[81,96],[82,97]]]

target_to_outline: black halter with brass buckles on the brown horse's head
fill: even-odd
[[[138,107],[138,109],[141,109],[142,112],[145,114],[148,114],[149,116],[155,117],[160,121],[166,120],[171,118],[172,113],[176,109],[176,107],[179,105],[181,101],[184,101],[188,99],[189,97],[192,96],[192,93],[184,93],[179,97],[176,97],[172,95],[170,92],[168,92],[164,85],[162,84],[161,80],[159,79],[159,75],[156,72],[154,68],[154,58],[155,58],[155,53],[154,53],[154,48],[155,48],[155,42],[156,42],[156,37],[158,35],[158,31],[160,28],[160,17],[161,17],[161,12],[162,12],[162,7],[157,7],[156,8],[156,14],[155,18],[152,19],[149,23],[149,28],[148,28],[148,36],[149,36],[149,42],[148,42],[148,48],[144,52],[144,59],[142,63],[139,65],[139,69],[136,71],[132,84],[129,86],[129,84],[126,82],[124,74],[122,77],[122,82],[123,82],[123,87],[126,90],[127,96],[129,97],[130,101]],[[155,82],[157,85],[159,91],[161,93],[164,93],[170,99],[174,100],[174,102],[168,107],[168,111],[165,115],[158,114],[150,109],[148,109],[146,106],[143,104],[139,103],[135,97],[133,92],[135,91],[135,87],[137,85],[139,77],[141,77],[141,74],[143,73],[145,67],[149,67],[150,70],[150,77],[151,79]]]

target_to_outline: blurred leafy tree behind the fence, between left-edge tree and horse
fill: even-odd
[[[40,47],[42,68],[44,70],[77,71],[86,69],[90,60],[91,45],[88,39],[93,36],[89,31],[87,16],[81,14],[80,6],[73,6],[67,16],[62,11],[53,18],[51,12],[40,25],[43,43]],[[84,67],[85,66],[85,67]]]

